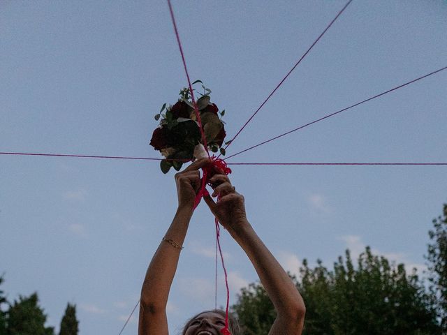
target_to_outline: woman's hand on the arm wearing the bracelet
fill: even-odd
[[[175,174],[179,208],[193,209],[196,194],[201,186],[200,172],[198,170],[208,163],[210,163],[210,159],[203,158],[189,165],[184,171]]]

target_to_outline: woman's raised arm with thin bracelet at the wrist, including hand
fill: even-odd
[[[196,161],[175,174],[178,208],[168,231],[156,250],[142,284],[139,335],[167,335],[166,304],[173,283],[182,245],[193,214],[196,193],[200,188],[199,169],[209,159]]]

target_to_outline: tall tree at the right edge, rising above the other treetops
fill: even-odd
[[[447,204],[443,214],[433,220],[433,230],[428,232],[430,244],[426,258],[434,305],[441,328],[447,334]]]

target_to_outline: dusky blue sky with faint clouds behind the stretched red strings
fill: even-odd
[[[192,80],[212,89],[229,140],[344,1],[177,1]],[[447,66],[447,1],[354,0],[227,156]],[[163,103],[186,86],[166,1],[1,1],[0,151],[159,158]],[[228,159],[447,162],[447,70]],[[446,166],[247,166],[230,175],[281,264],[330,267],[365,246],[425,267]],[[13,301],[38,292],[59,329],[118,334],[175,214],[173,172],[156,161],[0,155],[0,273]],[[230,304],[258,280],[226,232]],[[214,307],[214,220],[196,209],[168,304],[170,334]],[[225,304],[219,270],[219,306]],[[137,332],[133,315],[123,334]]]

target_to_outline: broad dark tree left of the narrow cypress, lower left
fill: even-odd
[[[54,335],[52,327],[45,327],[47,315],[38,305],[37,293],[19,297],[8,310],[7,335]]]

